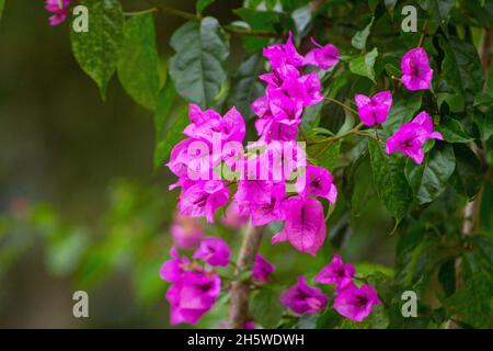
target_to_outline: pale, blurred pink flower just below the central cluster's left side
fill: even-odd
[[[203,229],[197,219],[175,214],[170,231],[176,247],[192,250],[200,244]]]

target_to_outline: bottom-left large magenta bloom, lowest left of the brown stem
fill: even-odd
[[[171,304],[171,325],[195,325],[214,306],[220,290],[221,281],[217,274],[185,272],[167,292],[167,299]]]

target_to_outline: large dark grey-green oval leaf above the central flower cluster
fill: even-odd
[[[176,54],[170,60],[170,75],[185,100],[206,109],[226,81],[229,42],[216,19],[187,22],[170,42]]]

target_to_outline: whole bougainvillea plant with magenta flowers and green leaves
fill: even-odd
[[[103,98],[116,71],[156,115],[177,194],[160,270],[172,325],[226,299],[227,328],[490,326],[492,1],[245,0],[229,24],[204,14],[214,0],[45,2],[54,26],[87,7],[77,61]],[[165,60],[156,16],[184,21]],[[340,252],[371,196],[393,217],[391,270]],[[262,239],[324,263],[279,281],[289,256],[273,262]]]

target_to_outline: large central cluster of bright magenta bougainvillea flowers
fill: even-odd
[[[171,188],[182,188],[177,205],[182,215],[214,222],[217,208],[230,200],[231,183],[218,176],[218,169],[227,165],[240,176],[234,179],[237,191],[223,223],[236,227],[246,218],[255,226],[284,220],[284,229],[272,241],[289,241],[302,252],[317,253],[325,239],[325,222],[323,206],[314,197],[335,202],[337,190],[332,174],[324,168],[306,166],[305,150],[298,145],[290,149],[290,157],[283,154],[284,161],[291,162],[279,172],[273,155],[279,149],[286,151],[289,143],[296,141],[305,107],[323,100],[318,73],[303,75],[302,67],[328,69],[339,60],[334,46],[313,43],[317,47],[303,57],[297,53],[289,33],[286,44],[275,44],[263,52],[272,71],[259,77],[266,82],[266,89],[265,95],[252,103],[259,116],[255,121],[259,140],[250,146],[250,150],[263,147],[262,155],[244,155],[233,147],[245,136],[244,121],[234,107],[221,116],[214,110],[202,111],[191,104],[191,123],[183,132],[187,138],[173,148],[168,163],[179,177]],[[300,172],[300,165],[305,172]],[[267,176],[259,177],[265,169]],[[293,191],[287,188],[289,180],[295,180]]]

